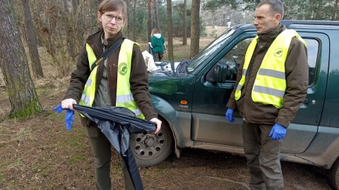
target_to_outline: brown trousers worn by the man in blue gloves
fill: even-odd
[[[272,127],[273,125],[246,122],[242,124],[244,153],[251,173],[251,189],[284,189],[280,165],[280,148],[283,141],[268,137]]]

